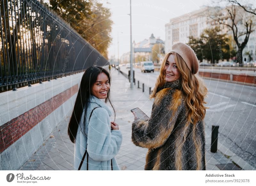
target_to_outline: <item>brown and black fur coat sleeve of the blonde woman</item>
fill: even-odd
[[[159,91],[149,120],[132,123],[133,143],[148,149],[162,146],[172,133],[183,103],[180,90],[166,88]]]

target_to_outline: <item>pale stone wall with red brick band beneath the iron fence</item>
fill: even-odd
[[[18,170],[72,112],[82,75],[0,94],[0,170]]]

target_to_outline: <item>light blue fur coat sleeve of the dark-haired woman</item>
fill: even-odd
[[[100,107],[93,111],[89,121],[87,151],[89,157],[95,161],[108,161],[114,158],[122,143],[121,131],[111,131],[108,118],[107,111]]]

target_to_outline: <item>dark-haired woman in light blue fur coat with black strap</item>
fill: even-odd
[[[108,71],[100,66],[89,67],[82,77],[68,124],[69,138],[75,143],[75,170],[120,170],[115,156],[122,143],[122,133],[110,121],[112,110],[107,102],[114,110]]]

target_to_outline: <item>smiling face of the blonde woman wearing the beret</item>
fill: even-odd
[[[167,82],[173,82],[175,80],[180,79],[181,77],[180,71],[176,66],[174,58],[175,56],[171,54],[165,62],[164,72],[165,72],[165,81]]]

